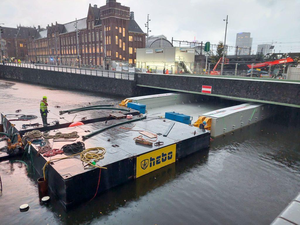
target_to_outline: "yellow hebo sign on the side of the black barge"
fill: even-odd
[[[137,157],[137,178],[175,162],[176,144]]]

